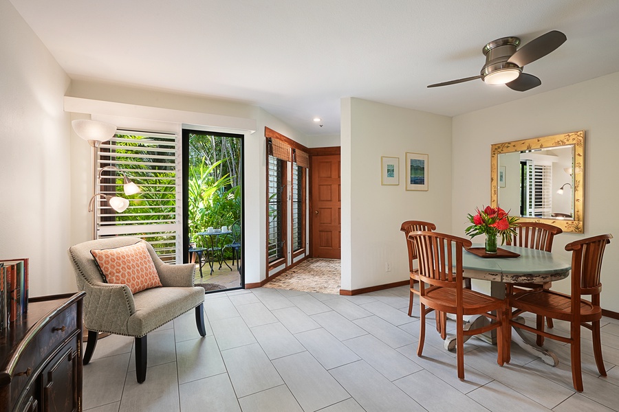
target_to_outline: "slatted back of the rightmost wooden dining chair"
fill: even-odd
[[[576,240],[565,246],[572,251],[572,297],[578,295],[599,295],[602,290],[600,273],[606,245],[613,238],[611,234]]]

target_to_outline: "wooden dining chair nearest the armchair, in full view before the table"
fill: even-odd
[[[424,350],[426,313],[437,310],[453,313],[456,316],[456,348],[458,378],[464,380],[464,336],[472,336],[497,330],[497,363],[503,366],[506,342],[504,340],[507,323],[504,319],[506,306],[503,299],[497,299],[464,287],[462,250],[470,247],[468,239],[457,238],[431,231],[409,233],[419,260],[420,295],[420,334],[417,356]],[[430,285],[426,287],[426,284]],[[496,314],[489,312],[495,311]],[[480,314],[492,321],[480,328],[464,330],[464,315]]]

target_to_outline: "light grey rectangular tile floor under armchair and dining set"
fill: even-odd
[[[84,409],[117,411],[619,411],[619,321],[602,319],[608,378],[598,377],[583,329],[585,391],[572,388],[569,347],[547,340],[550,367],[512,346],[465,344],[455,353],[406,316],[408,288],[352,297],[259,288],[206,295],[207,336],[193,311],[149,334],[146,382],[135,381],[133,339],[101,339],[84,367]],[[415,305],[413,314],[419,311]],[[428,319],[428,323],[431,319]],[[448,328],[455,323],[449,321]],[[566,324],[555,321],[556,329]]]

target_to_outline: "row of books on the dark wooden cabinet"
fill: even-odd
[[[0,260],[0,330],[28,312],[28,258]]]

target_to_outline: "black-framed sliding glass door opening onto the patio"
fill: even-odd
[[[185,262],[206,293],[243,288],[243,135],[183,130]]]

